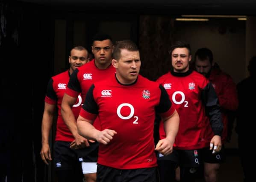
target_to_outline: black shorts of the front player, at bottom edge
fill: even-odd
[[[97,182],[157,182],[156,167],[117,169],[97,165]]]

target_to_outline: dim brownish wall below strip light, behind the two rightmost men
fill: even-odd
[[[235,83],[245,77],[246,21],[175,21],[174,27],[174,38],[190,43],[193,60],[197,49],[207,47],[212,50],[215,62],[232,76]]]

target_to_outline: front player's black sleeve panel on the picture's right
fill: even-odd
[[[160,102],[159,105],[156,106],[157,113],[165,113],[171,108],[171,101],[168,93],[162,85],[159,85],[161,90]]]

